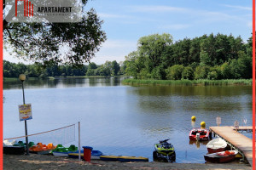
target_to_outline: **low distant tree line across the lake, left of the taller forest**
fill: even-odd
[[[82,65],[80,68],[72,65],[52,65],[44,68],[41,64],[24,65],[10,63],[3,60],[3,77],[19,77],[21,73],[27,77],[83,77],[83,76],[117,76],[119,75],[119,64],[116,61],[106,61],[104,65]],[[116,73],[115,75],[112,73]]]

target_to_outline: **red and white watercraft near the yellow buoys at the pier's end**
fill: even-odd
[[[205,141],[209,140],[209,130],[201,128],[193,128],[189,133],[190,140]]]

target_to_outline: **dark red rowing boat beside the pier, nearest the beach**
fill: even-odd
[[[207,154],[204,157],[206,161],[211,161],[214,163],[223,163],[226,161],[234,160],[237,153],[238,153],[237,150],[226,150],[226,151],[216,152],[213,154]]]

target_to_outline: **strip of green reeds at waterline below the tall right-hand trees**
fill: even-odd
[[[123,84],[127,85],[153,85],[153,86],[172,86],[172,85],[185,85],[185,86],[208,86],[208,85],[253,85],[253,79],[240,79],[240,80],[137,80],[125,79]]]

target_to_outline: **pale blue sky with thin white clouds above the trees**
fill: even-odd
[[[247,42],[253,31],[252,5],[253,0],[89,0],[84,10],[95,8],[108,38],[91,62],[124,61],[137,50],[140,37],[152,34],[169,33],[176,42],[221,33]],[[3,59],[23,62],[6,50]]]

